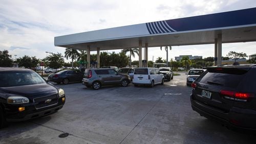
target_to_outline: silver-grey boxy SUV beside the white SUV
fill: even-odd
[[[82,84],[93,89],[99,89],[102,85],[121,84],[127,86],[131,82],[129,75],[119,74],[115,69],[92,68],[84,71]]]

